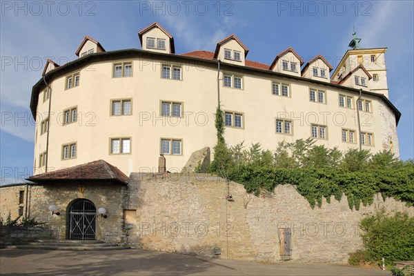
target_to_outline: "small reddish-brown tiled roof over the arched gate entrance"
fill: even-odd
[[[34,183],[50,181],[111,181],[119,184],[128,184],[128,177],[119,168],[103,160],[92,161],[78,166],[63,168],[52,172],[33,175],[28,178]]]

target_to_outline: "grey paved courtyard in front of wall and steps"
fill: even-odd
[[[143,250],[0,250],[1,275],[391,275],[335,264],[257,264]]]

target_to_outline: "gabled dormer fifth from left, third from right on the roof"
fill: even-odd
[[[289,47],[275,57],[272,65],[270,65],[270,70],[300,77],[300,68],[303,64],[304,60],[297,55],[293,48]]]

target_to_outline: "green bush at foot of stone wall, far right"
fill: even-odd
[[[351,253],[349,263],[353,265],[372,262],[391,265],[395,261],[414,260],[414,217],[408,213],[393,215],[385,209],[362,219],[360,228],[364,250]]]

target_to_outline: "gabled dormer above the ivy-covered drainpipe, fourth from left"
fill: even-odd
[[[248,48],[234,35],[217,43],[214,58],[223,62],[245,66]]]

